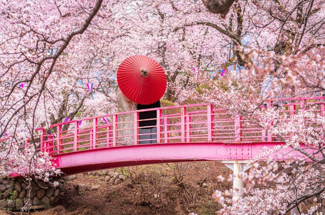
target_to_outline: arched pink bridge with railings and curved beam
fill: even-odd
[[[316,106],[324,114],[325,97],[286,98],[283,114]],[[271,107],[271,101],[268,102]],[[264,108],[261,106],[260,108]],[[51,125],[52,133],[37,128],[39,150],[54,157],[65,174],[92,170],[174,161],[249,160],[262,147],[284,144],[256,125],[253,120],[231,115],[226,109],[196,104],[153,108],[157,133],[152,144],[139,144],[139,112],[107,114]],[[120,128],[119,116],[128,116],[126,128]],[[271,122],[270,122],[271,123]],[[128,131],[128,132],[127,132]],[[131,133],[129,135],[124,133]],[[125,139],[129,139],[128,142]],[[143,140],[141,140],[143,141]],[[26,141],[29,144],[29,141]],[[129,144],[129,145],[124,145]],[[304,147],[303,145],[301,147]],[[287,149],[284,153],[303,157]],[[285,159],[285,157],[284,157]]]

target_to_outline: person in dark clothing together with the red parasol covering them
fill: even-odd
[[[167,87],[162,67],[144,55],[126,58],[117,70],[117,83],[137,109],[160,107],[159,99]],[[120,122],[120,121],[119,121]],[[157,143],[157,111],[139,111],[139,144]],[[118,136],[120,134],[118,133]]]

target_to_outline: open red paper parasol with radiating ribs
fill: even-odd
[[[167,86],[162,67],[144,55],[130,56],[121,63],[117,83],[127,98],[142,105],[157,102]]]

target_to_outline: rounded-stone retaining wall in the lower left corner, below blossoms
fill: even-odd
[[[0,178],[0,208],[27,210],[49,207],[59,195],[63,195],[64,179],[51,179],[55,180],[59,182],[56,187],[36,179],[33,179],[29,186],[27,179]]]

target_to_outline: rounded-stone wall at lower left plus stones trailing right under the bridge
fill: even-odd
[[[43,209],[54,203],[59,196],[64,195],[64,184],[66,181],[88,177],[91,179],[105,181],[107,184],[119,184],[126,179],[126,176],[119,175],[112,170],[100,170],[89,173],[65,176],[63,178],[51,179],[51,182],[58,181],[59,185],[54,187],[51,183],[33,179],[31,186],[27,179],[0,178],[0,208],[8,210],[21,209]],[[86,187],[84,184],[75,186],[77,194],[81,195],[86,190],[97,190],[98,185]]]

